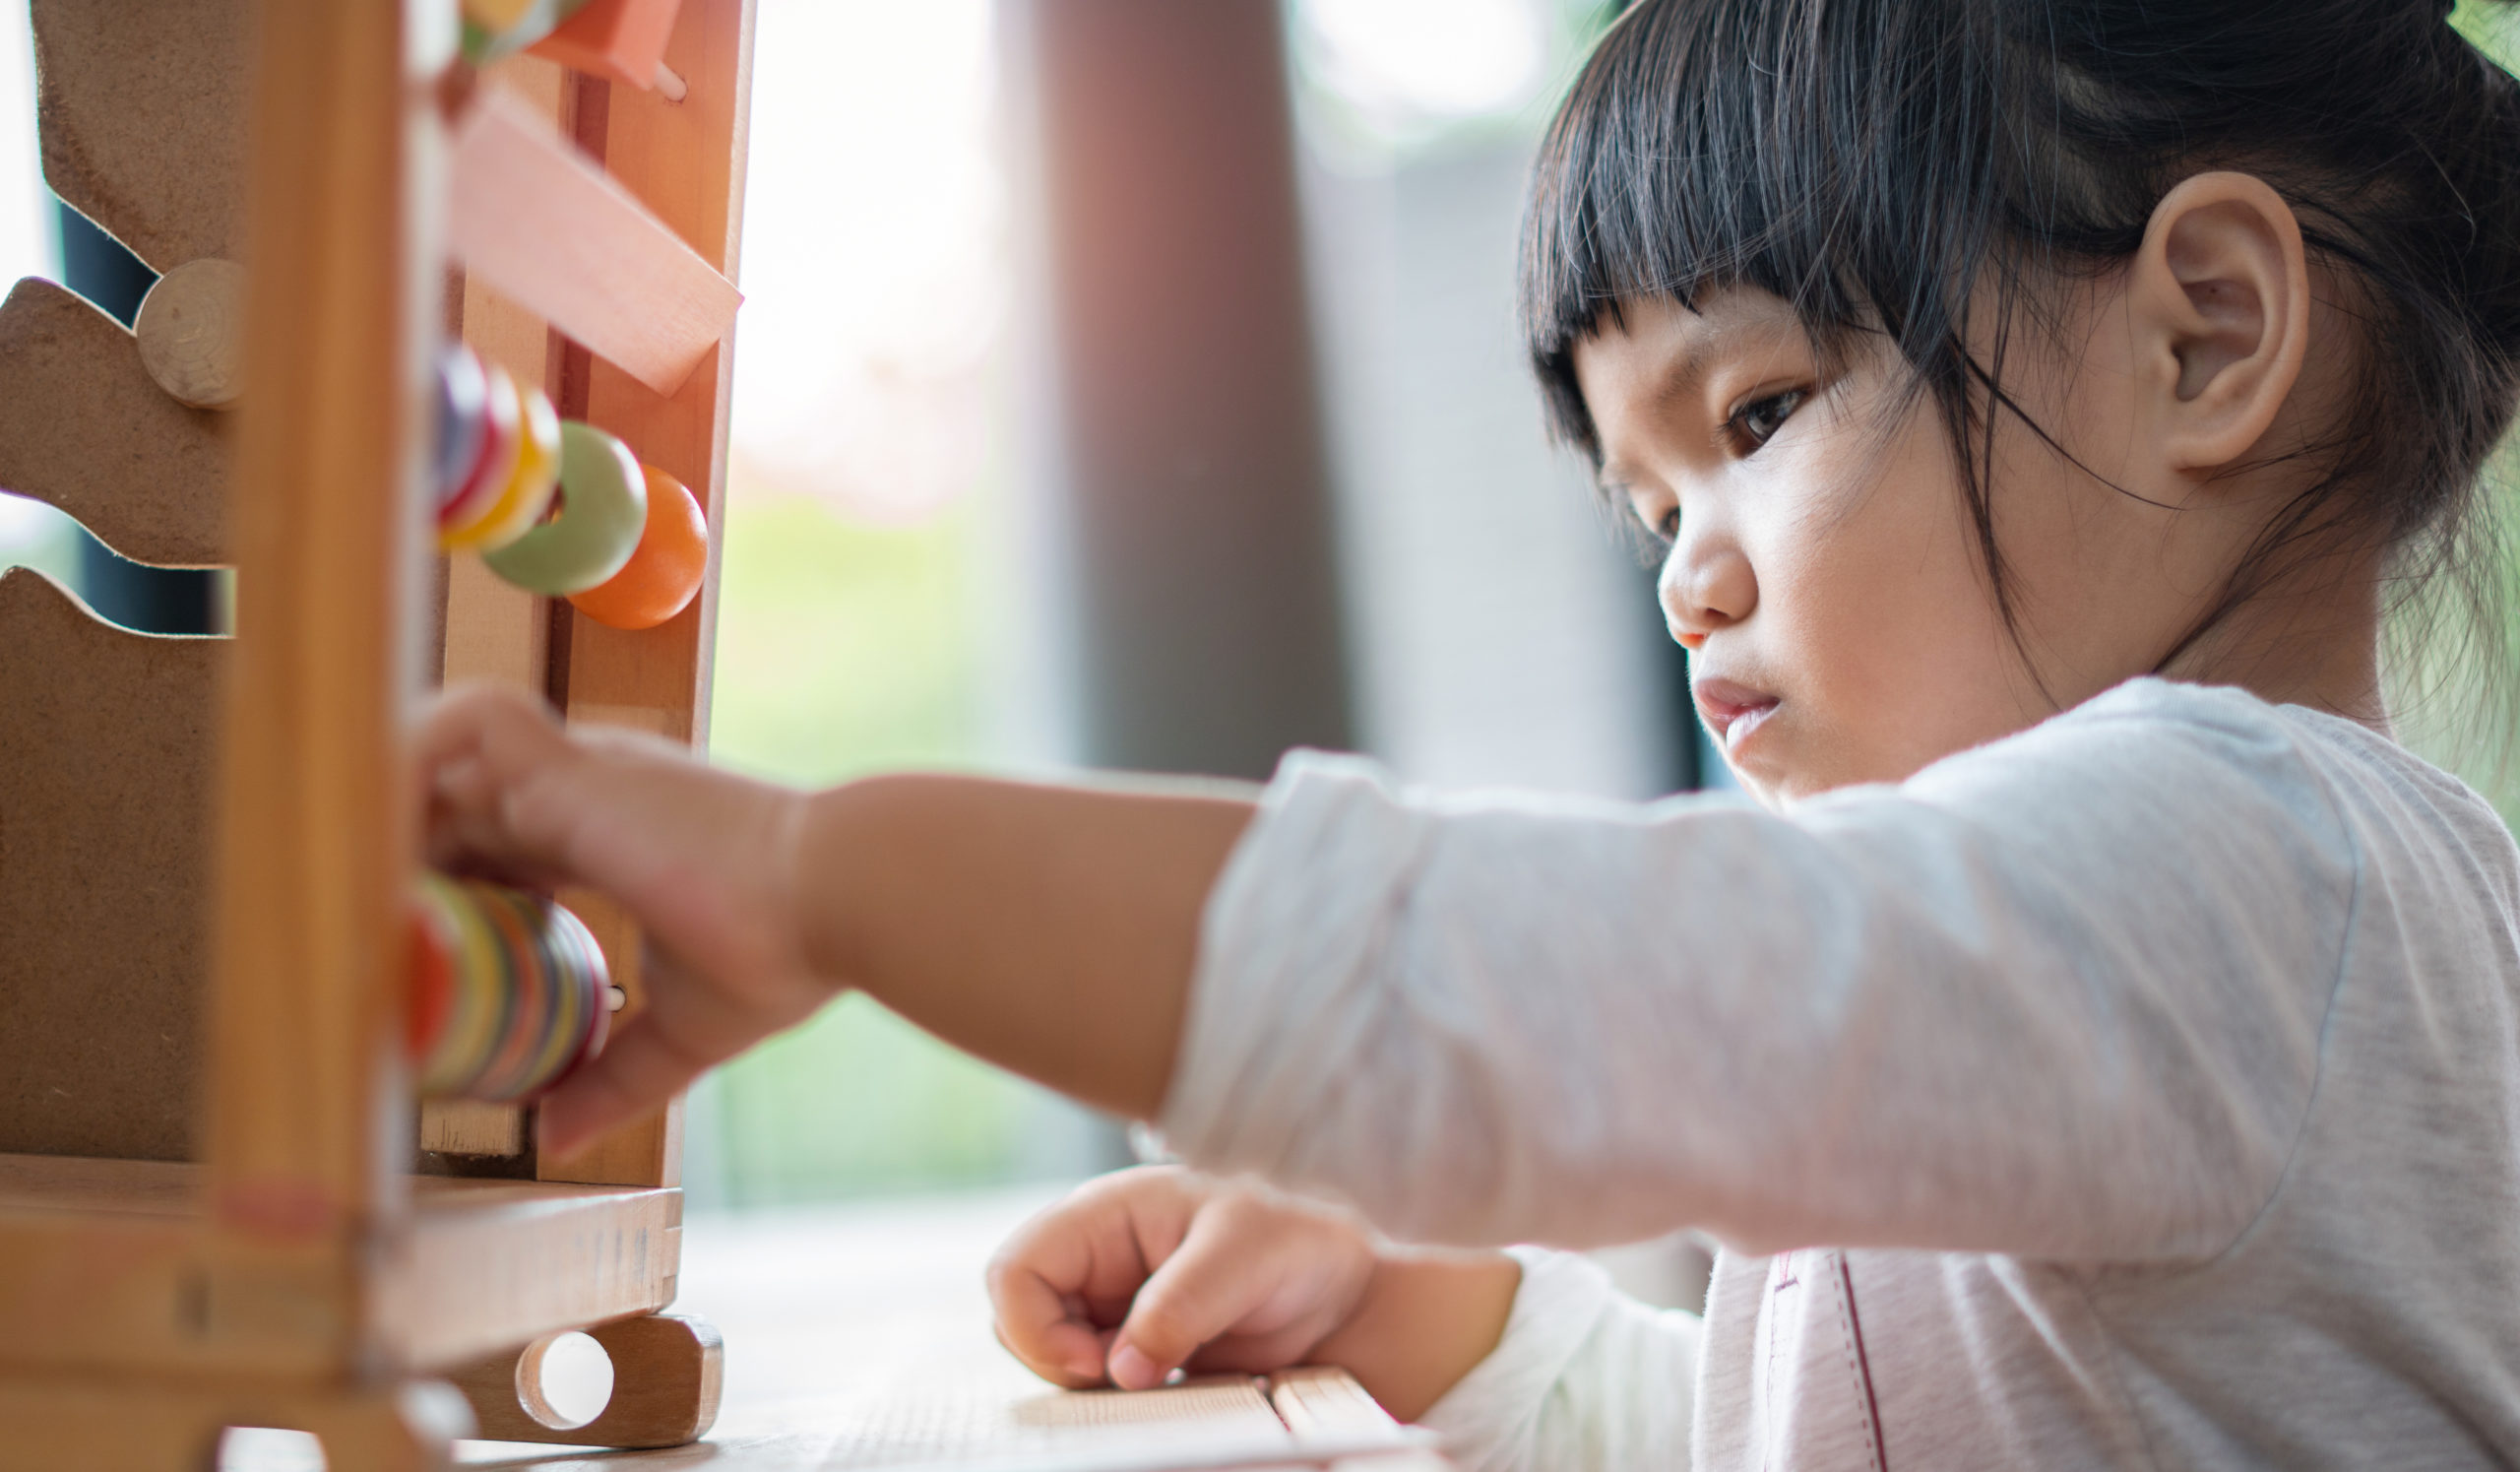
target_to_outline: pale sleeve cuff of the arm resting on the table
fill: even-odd
[[[1696,1313],[1648,1308],[1585,1258],[1515,1248],[1522,1288],[1497,1348],[1421,1419],[1462,1472],[1686,1467]]]

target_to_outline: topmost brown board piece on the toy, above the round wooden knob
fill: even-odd
[[[33,0],[43,176],[166,272],[239,260],[249,0]]]

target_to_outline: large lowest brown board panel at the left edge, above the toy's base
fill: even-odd
[[[227,655],[0,572],[0,1152],[192,1154]]]

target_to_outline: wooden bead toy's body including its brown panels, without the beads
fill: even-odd
[[[683,0],[660,60],[635,25],[580,48],[615,78],[529,55],[481,73],[522,98],[509,121],[602,161],[610,184],[577,179],[610,189],[600,209],[638,202],[645,227],[587,224],[592,255],[665,262],[670,300],[625,297],[638,270],[615,272],[567,305],[567,338],[446,267],[449,239],[537,250],[461,176],[464,149],[501,144],[459,126],[451,5],[33,18],[45,174],[166,272],[176,325],[144,363],[111,318],[20,282],[0,486],[139,562],[239,572],[234,640],[126,633],[40,575],[0,577],[0,1467],[202,1467],[222,1427],[315,1432],[335,1472],[436,1467],[474,1429],[688,1442],[716,1412],[718,1341],[660,1313],[680,1109],[549,1159],[517,1107],[413,1104],[406,731],[444,676],[706,739],[713,565],[670,623],[597,625],[433,562],[421,466],[436,348],[461,333],[721,524],[751,5]],[[668,260],[675,239],[708,270]],[[217,333],[219,270],[179,270],[227,260],[247,272],[242,398],[192,340]],[[638,1008],[638,935],[570,905]],[[615,1394],[559,1429],[537,1346],[570,1328],[612,1354]]]

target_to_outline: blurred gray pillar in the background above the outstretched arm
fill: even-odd
[[[1084,756],[1348,746],[1275,0],[1000,0]],[[1046,461],[1046,464],[1041,464]]]

